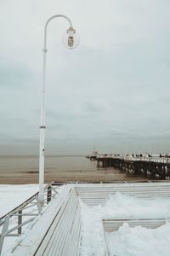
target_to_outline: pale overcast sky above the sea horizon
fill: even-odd
[[[170,1],[0,0],[0,154],[38,154],[48,26],[46,154],[170,152]]]

